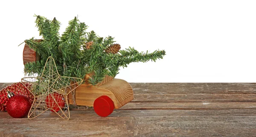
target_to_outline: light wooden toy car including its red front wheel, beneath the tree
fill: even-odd
[[[125,80],[106,76],[96,86],[81,84],[76,88],[75,94],[70,93],[68,98],[69,104],[75,104],[75,100],[76,105],[93,106],[99,116],[106,117],[114,108],[118,109],[133,100],[134,94],[131,85]]]

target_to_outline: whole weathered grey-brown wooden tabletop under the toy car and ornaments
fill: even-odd
[[[0,83],[0,88],[9,83]],[[99,117],[73,108],[33,120],[0,112],[0,136],[256,136],[256,83],[131,83],[134,100]]]

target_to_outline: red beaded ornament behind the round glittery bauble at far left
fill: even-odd
[[[32,84],[24,83],[27,87],[31,87]],[[7,91],[13,92],[15,95],[21,94],[29,98],[30,103],[34,101],[34,95],[29,92],[22,83],[13,83],[10,86],[6,86],[0,91],[0,110],[6,111],[6,103],[9,100],[7,97]]]

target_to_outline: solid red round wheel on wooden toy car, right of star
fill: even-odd
[[[94,100],[93,108],[96,114],[101,117],[107,117],[114,110],[114,103],[108,96],[101,96]]]

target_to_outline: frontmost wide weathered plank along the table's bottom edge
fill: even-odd
[[[184,110],[183,110],[184,111]],[[186,110],[188,111],[188,110]],[[86,111],[90,112],[90,111]],[[3,112],[2,112],[3,113]],[[51,113],[51,112],[49,112]],[[256,116],[128,116],[91,117],[76,114],[70,121],[45,113],[34,120],[0,119],[0,136],[254,136]],[[81,113],[81,111],[80,111]],[[46,116],[47,114],[47,116]],[[6,122],[8,121],[8,124]]]

